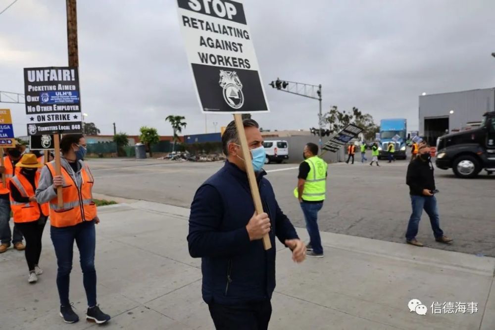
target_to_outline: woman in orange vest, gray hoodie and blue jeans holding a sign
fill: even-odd
[[[76,241],[88,300],[86,319],[98,324],[106,323],[110,316],[99,309],[96,296],[95,225],[99,223],[99,218],[92,195],[95,179],[82,160],[86,156],[86,139],[82,134],[64,135],[60,141],[60,149],[61,175],[56,175],[54,161],[47,163],[36,189],[38,202],[50,204],[50,236],[58,264],[60,316],[66,323],[79,321],[69,300],[72,255]],[[62,207],[57,203],[56,190],[59,187],[63,187]]]

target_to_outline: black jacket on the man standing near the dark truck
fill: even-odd
[[[416,158],[407,167],[406,184],[411,195],[423,196],[423,189],[435,190],[435,177],[433,176],[433,164]]]

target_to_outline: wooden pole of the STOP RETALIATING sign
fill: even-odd
[[[237,134],[239,135],[239,141],[241,143],[241,148],[243,149],[243,157],[246,163],[247,179],[249,181],[249,187],[251,188],[251,196],[254,202],[254,209],[256,214],[263,213],[263,204],[261,203],[261,196],[259,195],[258,184],[256,182],[256,175],[254,174],[254,169],[251,163],[251,152],[249,151],[249,146],[247,145],[246,132],[244,131],[243,118],[241,114],[234,114],[234,120],[236,122]],[[275,219],[271,219],[275,220]],[[263,247],[265,250],[269,250],[272,247],[270,242],[270,236],[266,234],[263,236]]]

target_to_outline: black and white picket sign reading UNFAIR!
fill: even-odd
[[[24,69],[28,135],[82,132],[77,67]]]

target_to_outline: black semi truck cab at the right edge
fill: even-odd
[[[495,172],[495,111],[483,117],[477,129],[438,138],[438,168],[451,168],[458,178],[474,178],[483,169]]]

